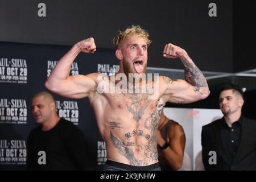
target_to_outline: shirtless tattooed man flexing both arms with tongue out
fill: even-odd
[[[96,51],[94,39],[88,38],[76,43],[60,59],[45,85],[63,97],[89,97],[101,136],[106,142],[108,160],[104,169],[157,170],[156,132],[163,105],[166,102],[187,104],[203,100],[210,93],[207,81],[188,53],[169,43],[164,47],[163,56],[167,59],[179,57],[185,67],[185,80],[159,76],[148,78],[146,82],[141,79],[136,85],[129,76],[141,78],[147,73],[147,48],[151,43],[147,31],[131,26],[120,31],[113,43],[119,61],[116,75],[108,79],[100,73],[69,76],[71,64],[80,52]],[[123,75],[127,76],[127,82]],[[152,93],[142,92],[141,88],[148,84],[154,88],[154,97],[150,98]],[[107,85],[108,89],[103,90],[102,85]],[[113,85],[122,92],[111,92]],[[139,88],[139,92],[128,92],[131,87],[131,90]]]

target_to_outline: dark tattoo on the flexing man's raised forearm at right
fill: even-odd
[[[203,73],[199,68],[196,67],[195,64],[190,63],[188,60],[181,58],[181,61],[185,66],[185,80],[189,82],[189,84],[195,86],[195,92],[201,93],[200,88],[207,86],[207,80],[205,79]]]

